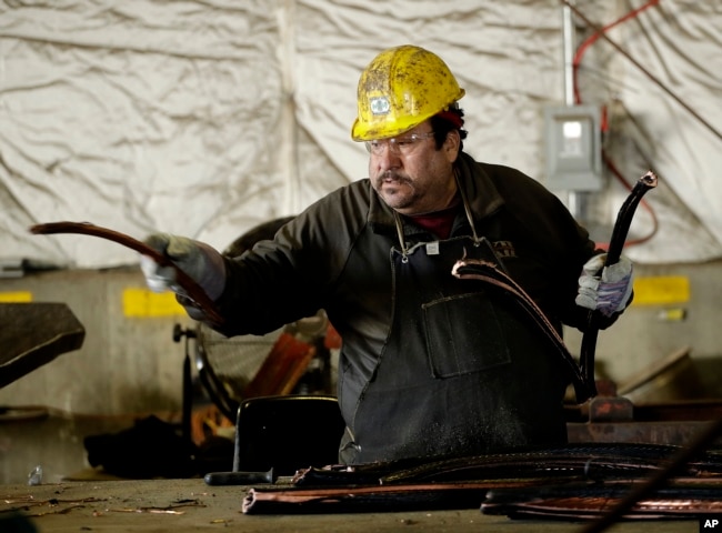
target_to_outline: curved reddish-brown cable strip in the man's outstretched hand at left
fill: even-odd
[[[223,323],[223,318],[215,309],[213,301],[208,298],[205,291],[203,291],[203,289],[201,289],[200,285],[195,283],[191,276],[179,269],[170,258],[166,257],[142,241],[133,239],[132,237],[129,237],[124,233],[109,230],[108,228],[94,225],[90,222],[49,222],[30,227],[30,232],[42,235],[56,233],[77,233],[81,235],[99,237],[101,239],[117,242],[118,244],[121,244],[126,248],[130,248],[131,250],[134,250],[142,255],[148,255],[161,266],[172,266],[176,270],[176,282],[181,289],[185,291],[185,296],[191,300],[193,304],[198,305],[198,308],[200,308],[211,321],[215,322],[217,324]]]

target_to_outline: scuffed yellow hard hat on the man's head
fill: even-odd
[[[395,137],[448,109],[464,95],[447,63],[405,44],[377,56],[359,80],[354,141]]]

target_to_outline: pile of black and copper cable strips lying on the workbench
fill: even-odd
[[[489,514],[514,512],[520,506],[533,513],[539,503],[539,509],[550,507],[550,517],[566,512],[566,516],[595,519],[610,503],[622,501],[631,487],[663,470],[679,451],[679,446],[600,443],[438,461],[419,457],[415,465],[411,464],[414,460],[331,465],[300,471],[293,485],[251,489],[243,512],[471,509],[479,507],[487,496]],[[660,515],[674,515],[674,510],[690,500],[696,505],[688,517],[719,511],[719,455],[701,454],[676,473],[672,483],[678,490],[665,494],[666,503],[655,499],[661,504],[656,507]],[[633,510],[634,517],[651,517],[649,507],[641,505]]]

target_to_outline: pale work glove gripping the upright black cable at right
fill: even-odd
[[[604,266],[604,261],[606,254],[601,253],[584,264],[575,301],[582,308],[612,316],[624,311],[632,295],[632,262],[623,255],[609,266]],[[596,275],[602,266],[602,275]]]

